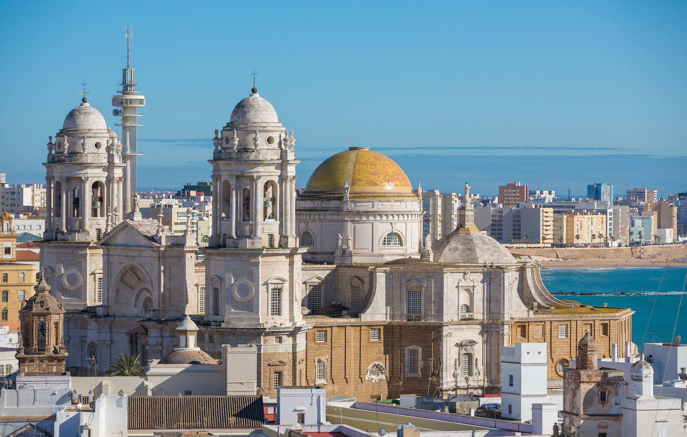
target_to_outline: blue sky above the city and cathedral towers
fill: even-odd
[[[687,191],[687,2],[627,0],[3,1],[9,182],[45,182],[82,80],[114,128],[125,23],[146,96],[139,187],[209,179],[213,131],[255,68],[295,133],[297,186],[350,134],[425,189]]]

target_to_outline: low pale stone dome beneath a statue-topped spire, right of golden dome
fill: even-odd
[[[455,230],[431,245],[433,260],[449,264],[513,264],[515,257],[498,241],[481,232]]]

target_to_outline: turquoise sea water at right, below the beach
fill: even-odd
[[[675,335],[687,340],[687,268],[549,268],[541,279],[550,292],[601,292],[602,296],[556,296],[600,307],[631,308],[632,341],[642,349],[649,342],[671,342]],[[619,296],[620,293],[633,294]],[[638,294],[641,293],[641,294]],[[653,311],[652,311],[653,307]],[[647,322],[649,323],[647,327]],[[621,346],[622,347],[622,346]]]

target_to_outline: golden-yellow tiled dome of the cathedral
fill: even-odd
[[[350,199],[417,199],[403,169],[368,147],[348,147],[327,158],[310,176],[301,197],[342,198],[344,182],[350,185]]]

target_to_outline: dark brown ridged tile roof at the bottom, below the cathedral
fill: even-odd
[[[259,428],[259,396],[132,396],[128,429]]]

